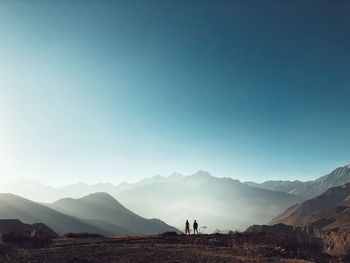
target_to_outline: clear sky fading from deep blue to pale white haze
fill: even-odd
[[[0,177],[199,169],[313,179],[350,162],[350,2],[0,1]]]

